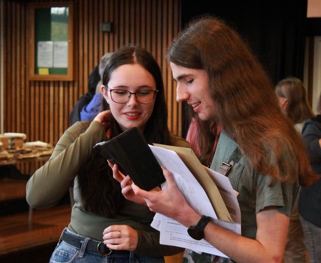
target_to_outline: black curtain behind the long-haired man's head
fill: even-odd
[[[202,14],[223,19],[249,44],[275,85],[288,76],[303,80],[306,12],[307,0],[183,0],[182,27]],[[183,116],[183,136],[187,126]]]

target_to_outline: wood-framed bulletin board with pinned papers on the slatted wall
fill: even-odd
[[[73,3],[28,5],[30,80],[73,80]]]

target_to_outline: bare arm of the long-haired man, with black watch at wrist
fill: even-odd
[[[201,218],[201,215],[185,205],[175,216],[186,227],[196,225]],[[275,219],[273,228],[268,224],[272,218]],[[270,209],[260,212],[257,220],[256,239],[230,232],[212,222],[205,227],[204,238],[237,262],[282,262],[288,217],[277,212],[277,209]]]

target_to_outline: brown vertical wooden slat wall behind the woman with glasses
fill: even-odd
[[[69,114],[87,91],[91,70],[101,56],[118,47],[140,44],[162,68],[169,106],[169,127],[181,135],[181,105],[166,61],[166,49],[180,29],[181,0],[74,0],[74,81],[29,81],[26,61],[27,4],[4,1],[4,132],[23,132],[28,141],[55,145],[69,126]],[[56,1],[63,2],[63,1]],[[114,33],[99,31],[112,22]]]

